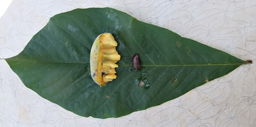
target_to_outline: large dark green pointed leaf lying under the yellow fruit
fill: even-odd
[[[114,35],[121,59],[118,78],[99,87],[91,78],[89,57],[94,39],[104,32]],[[136,53],[141,71],[132,67]],[[112,8],[76,9],[53,16],[19,55],[6,61],[43,98],[97,118],[160,105],[246,63]],[[138,87],[141,79],[146,85]]]

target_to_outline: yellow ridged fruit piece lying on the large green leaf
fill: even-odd
[[[97,63],[91,63],[91,75],[100,86],[117,78],[115,68],[118,67],[116,63],[120,60],[117,46],[118,43],[111,33],[100,34],[92,46],[90,63]]]

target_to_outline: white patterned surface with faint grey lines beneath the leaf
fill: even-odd
[[[20,53],[51,16],[89,7],[113,7],[242,60],[256,60],[256,0],[13,0],[0,18],[0,58]],[[256,127],[255,63],[160,106],[96,119],[43,99],[0,60],[0,127]]]

